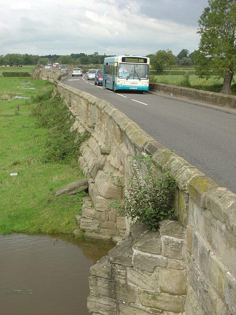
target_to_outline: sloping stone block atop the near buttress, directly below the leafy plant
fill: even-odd
[[[141,252],[150,252],[153,254],[161,253],[161,235],[159,231],[147,231],[133,243],[133,248]]]

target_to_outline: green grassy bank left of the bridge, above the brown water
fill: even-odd
[[[54,197],[54,191],[83,177],[71,162],[79,144],[69,134],[73,121],[66,106],[50,97],[52,89],[47,81],[0,77],[0,233],[71,234],[76,226],[82,196]],[[65,152],[66,143],[73,153]]]

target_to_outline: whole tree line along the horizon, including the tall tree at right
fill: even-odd
[[[179,66],[194,65],[195,73],[203,78],[214,75],[223,78],[222,92],[231,94],[231,85],[234,82],[236,71],[236,0],[208,0],[208,6],[204,9],[199,21],[198,34],[200,35],[199,48],[189,53],[183,48],[177,56],[172,50],[158,50],[149,54],[152,69],[161,73],[167,66],[177,64]],[[111,56],[111,55],[110,55]],[[22,64],[46,64],[71,63],[71,64],[99,64],[104,57],[94,52],[91,55],[85,53],[60,55],[29,55],[7,54],[0,56],[0,65]]]

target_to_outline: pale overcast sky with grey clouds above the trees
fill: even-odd
[[[198,48],[207,0],[0,0],[0,55]]]

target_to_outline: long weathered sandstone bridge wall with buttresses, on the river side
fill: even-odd
[[[93,315],[236,315],[236,195],[218,187],[187,161],[172,154],[168,168],[177,180],[175,209],[184,229],[183,240],[173,234],[176,230],[180,233],[182,228],[175,229],[174,224],[178,223],[170,222],[167,224],[170,230],[163,232],[165,227],[162,226],[160,234],[138,234],[140,243],[151,236],[147,247],[138,245],[137,249],[138,239],[132,231],[130,234],[129,221],[109,208],[111,200],[122,196],[121,188],[111,184],[109,172],[114,171],[127,182],[129,155],[150,154],[161,164],[167,149],[107,101],[59,81],[56,83],[76,118],[73,128],[91,132],[82,146],[80,158],[91,199],[87,199],[83,207],[82,227],[90,237],[118,241],[126,235],[108,257],[91,269],[88,305]],[[101,154],[104,148],[109,149],[105,152],[110,154]],[[178,243],[181,244],[179,251]],[[158,244],[161,247],[158,248]],[[157,248],[160,253],[153,252]],[[166,251],[175,255],[170,256]],[[124,259],[116,258],[119,255]],[[160,261],[167,264],[160,266]],[[148,270],[150,265],[153,269]],[[183,289],[181,293],[174,292],[174,288],[181,288],[185,283],[185,268],[186,299]],[[173,275],[172,269],[175,270]],[[163,275],[167,275],[164,283]],[[135,279],[139,279],[138,282]],[[151,279],[148,280],[150,286],[145,286],[147,279]],[[155,286],[151,286],[153,281]],[[174,301],[177,309],[167,309]],[[97,308],[94,303],[98,303]]]

